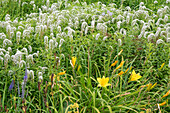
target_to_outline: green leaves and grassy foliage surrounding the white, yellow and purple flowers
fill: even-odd
[[[33,12],[39,12],[38,8],[46,5],[45,2],[40,0],[34,0],[36,6],[38,6],[33,11],[33,6],[30,5],[30,0],[22,1],[20,4],[14,2],[13,0],[1,1],[0,3],[0,20],[4,21],[6,14],[9,14],[11,20],[15,18],[23,18],[23,23],[27,23],[25,20],[26,14]],[[23,2],[28,2],[22,6]],[[50,1],[50,4],[57,2],[57,0]],[[86,1],[89,5],[97,1]],[[112,1],[101,1],[108,5]],[[132,1],[132,0],[115,0],[113,1],[117,4],[117,8],[124,9],[126,6],[130,6],[132,9],[137,10],[139,8],[139,3],[142,0]],[[159,0],[157,6],[153,4],[152,0],[143,0],[147,8],[157,11],[161,8],[165,1]],[[69,1],[72,3],[72,1]],[[87,7],[89,7],[87,5]],[[82,4],[78,5],[84,7]],[[96,6],[97,7],[97,6]],[[108,6],[109,7],[109,6]],[[65,9],[64,2],[62,2],[60,10]],[[66,8],[69,9],[69,8]],[[101,10],[99,8],[99,10]],[[87,13],[87,12],[86,12]],[[113,15],[116,17],[117,15]],[[108,21],[110,18],[105,18]],[[156,18],[155,20],[157,20]],[[90,18],[87,23],[90,25],[92,18]],[[19,20],[22,21],[22,20]],[[35,22],[31,22],[32,26],[36,26]],[[66,27],[64,24],[63,27]],[[16,53],[17,49],[28,48],[29,45],[32,46],[33,52],[40,52],[38,57],[34,58],[34,61],[30,64],[29,70],[41,70],[39,66],[48,67],[43,74],[43,81],[38,79],[37,73],[35,73],[35,78],[29,77],[26,84],[26,94],[25,99],[22,99],[18,95],[18,84],[23,81],[25,74],[25,67],[18,68],[12,61],[9,62],[7,67],[2,64],[0,66],[0,111],[1,112],[67,112],[71,111],[69,108],[71,104],[79,104],[79,112],[141,112],[149,111],[158,112],[157,103],[169,100],[169,96],[166,98],[161,98],[170,89],[170,71],[168,68],[169,63],[169,43],[159,44],[156,46],[156,40],[148,43],[147,39],[138,39],[138,32],[132,31],[133,27],[131,25],[124,25],[124,28],[128,31],[127,36],[124,37],[121,34],[116,36],[111,27],[116,28],[115,24],[108,25],[108,34],[102,34],[99,40],[95,40],[93,35],[98,33],[97,30],[89,30],[88,35],[82,35],[80,28],[76,30],[74,35],[74,40],[65,38],[64,44],[61,48],[55,48],[52,52],[46,50],[44,46],[44,41],[39,40],[39,36],[26,40],[21,40],[20,44],[16,44],[16,40],[12,39],[13,45],[11,55]],[[142,27],[142,26],[141,26]],[[155,32],[156,27],[153,26],[150,31]],[[0,28],[0,32],[7,34],[5,28]],[[22,31],[23,32],[23,31]],[[55,34],[57,34],[55,30]],[[31,34],[33,35],[34,32]],[[129,34],[133,35],[130,37]],[[103,41],[104,36],[109,36],[106,41]],[[8,34],[7,34],[8,36]],[[43,36],[50,37],[50,30],[48,29]],[[163,37],[159,37],[163,39]],[[118,39],[122,40],[122,45],[118,46]],[[60,39],[56,39],[60,42]],[[0,40],[0,48],[3,47],[3,40]],[[7,46],[8,47],[8,46]],[[7,47],[5,49],[7,49]],[[122,54],[116,58],[119,63],[122,58],[125,61],[124,66],[120,69],[125,71],[127,68],[132,66],[136,72],[142,75],[140,82],[130,82],[128,83],[129,73],[121,77],[116,77],[116,74],[120,70],[112,73],[115,67],[110,68],[113,59],[123,49]],[[60,65],[55,59],[55,55],[60,58]],[[70,60],[72,56],[77,57],[76,67],[73,69],[70,65]],[[118,64],[119,64],[118,63]],[[162,63],[165,63],[164,67],[160,70]],[[117,64],[117,66],[118,66]],[[81,65],[80,70],[78,66]],[[47,85],[51,82],[49,76],[55,73],[62,72],[66,70],[66,74],[60,76],[60,80],[55,80],[56,85],[51,88]],[[9,75],[8,71],[13,70],[13,74]],[[109,70],[109,71],[108,71]],[[130,72],[130,71],[129,71]],[[109,83],[112,87],[99,88],[97,87],[98,77],[110,77]],[[15,80],[15,85],[12,91],[9,91],[9,86],[11,81]],[[142,85],[149,83],[157,83],[157,85],[150,91],[147,88],[141,88]],[[59,87],[61,84],[62,87]],[[38,89],[40,85],[40,89]],[[47,87],[48,86],[48,87]],[[52,95],[51,95],[52,94]],[[161,107],[162,112],[169,112],[169,105]],[[77,109],[74,109],[77,111]],[[74,111],[73,110],[73,111]]]

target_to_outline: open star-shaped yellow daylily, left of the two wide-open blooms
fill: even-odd
[[[105,78],[105,76],[103,76],[103,78],[97,78],[97,81],[99,82],[98,87],[106,87],[106,86],[111,85],[111,84],[108,84],[109,77]]]

